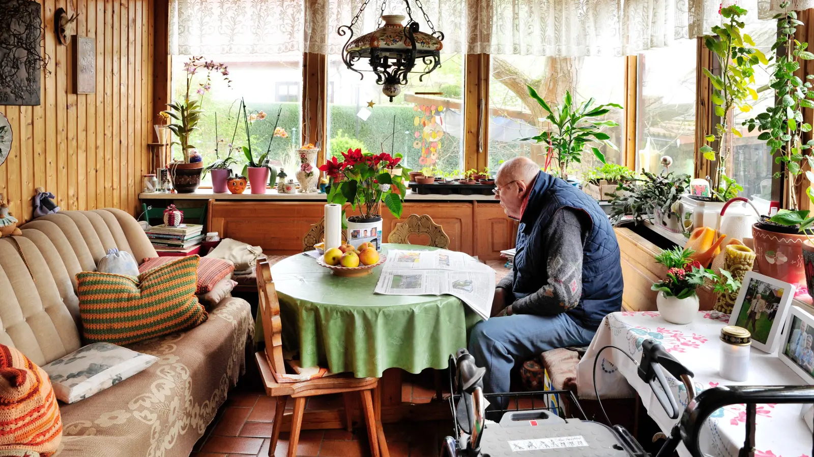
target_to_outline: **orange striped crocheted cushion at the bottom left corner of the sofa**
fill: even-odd
[[[48,374],[19,350],[0,344],[0,455],[31,450],[53,455],[62,418]]]

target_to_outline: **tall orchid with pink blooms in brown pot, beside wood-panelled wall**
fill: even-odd
[[[183,71],[186,72],[186,92],[182,101],[173,101],[167,103],[170,107],[169,110],[162,111],[164,114],[175,120],[175,123],[169,124],[167,127],[175,133],[178,141],[173,141],[172,144],[181,146],[181,153],[184,155],[184,162],[190,162],[190,150],[195,149],[195,146],[190,144],[190,134],[198,128],[198,122],[201,114],[204,112],[202,109],[204,103],[204,94],[212,89],[212,72],[221,73],[226,84],[231,87],[231,80],[229,79],[229,68],[223,63],[215,63],[212,60],[206,60],[203,56],[193,56],[184,64]],[[198,82],[195,76],[206,72],[206,79],[203,82]],[[197,85],[197,89],[195,86]],[[190,91],[193,91],[190,94]],[[194,98],[195,95],[199,97]]]

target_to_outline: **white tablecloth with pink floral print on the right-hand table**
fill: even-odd
[[[577,385],[580,398],[596,398],[593,393],[592,368],[597,351],[606,345],[614,345],[626,351],[637,362],[641,360],[641,343],[653,338],[685,367],[694,372],[696,392],[716,385],[801,385],[803,380],[786,367],[777,355],[769,355],[751,349],[751,370],[747,381],[735,382],[724,379],[718,371],[720,359],[720,329],[729,316],[712,316],[699,311],[690,324],[676,325],[663,320],[658,312],[615,312],[606,316],[597,330],[588,352],[577,365]],[[669,435],[677,420],[667,416],[650,385],[637,375],[637,365],[618,350],[602,351],[597,363],[597,388],[601,398],[632,397],[633,390],[641,397],[659,428]],[[673,395],[682,406],[687,404],[687,394],[681,381],[670,376]],[[627,380],[627,381],[625,381]],[[755,455],[759,457],[808,457],[812,449],[812,433],[800,418],[800,405],[758,405],[755,435]],[[730,405],[716,411],[702,429],[701,449],[709,455],[737,457],[745,437],[746,407]],[[689,455],[682,444],[679,454]]]

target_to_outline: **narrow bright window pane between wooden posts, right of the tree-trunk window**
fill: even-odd
[[[696,41],[639,54],[637,170],[660,172],[665,155],[671,172],[694,172]]]

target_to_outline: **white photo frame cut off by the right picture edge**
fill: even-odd
[[[814,316],[801,307],[791,307],[785,324],[777,357],[803,381],[814,385]]]

